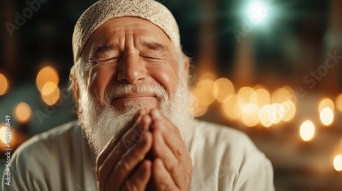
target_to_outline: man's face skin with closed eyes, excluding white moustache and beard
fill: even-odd
[[[88,87],[105,105],[105,91],[121,84],[161,85],[172,98],[179,81],[179,63],[172,42],[156,25],[137,17],[107,20],[90,36],[83,54],[88,59]],[[118,111],[130,100],[158,106],[152,92],[114,93],[109,102]]]

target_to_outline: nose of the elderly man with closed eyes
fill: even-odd
[[[125,55],[118,67],[118,80],[121,83],[135,84],[146,78],[146,65],[137,54]]]

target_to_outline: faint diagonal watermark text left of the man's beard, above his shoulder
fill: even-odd
[[[52,106],[45,106],[44,111],[36,110],[34,113],[36,114],[40,125],[42,125],[43,119],[49,118],[51,115],[53,115],[57,107],[62,106],[64,100],[67,100],[68,98],[70,98],[70,96],[71,92],[67,88],[64,88],[60,91],[60,98],[55,104],[53,104]]]

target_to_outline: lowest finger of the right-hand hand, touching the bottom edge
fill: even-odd
[[[156,158],[153,161],[152,176],[153,180],[155,181],[155,187],[158,191],[179,190],[179,188],[177,188],[174,184],[170,173],[168,173],[168,170],[165,168],[163,161],[160,158]]]

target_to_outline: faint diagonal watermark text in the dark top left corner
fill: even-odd
[[[20,27],[23,27],[25,25],[27,19],[34,16],[35,12],[38,12],[40,10],[40,7],[42,3],[47,3],[48,0],[27,0],[26,4],[27,7],[23,9],[21,13],[14,12],[16,15],[16,18],[14,18],[14,23],[6,22],[5,27],[8,30],[8,33],[10,33],[10,36],[13,36],[13,31],[20,29]]]

